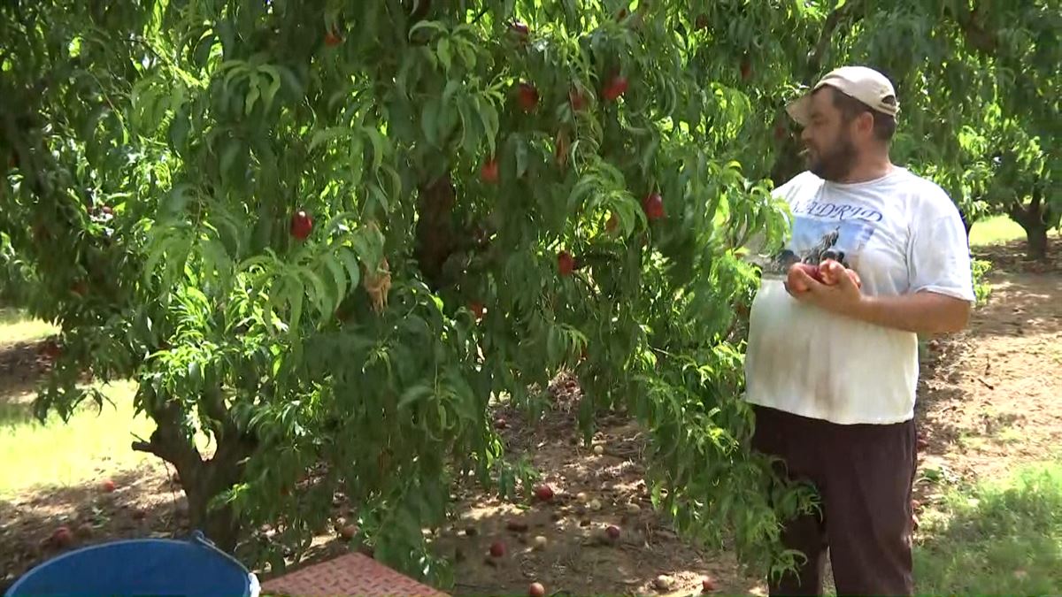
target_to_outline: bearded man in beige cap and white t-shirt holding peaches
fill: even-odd
[[[834,70],[788,112],[808,171],[775,191],[792,237],[753,301],[747,399],[753,447],[813,483],[822,508],[784,529],[807,562],[771,595],[821,594],[827,547],[838,593],[910,595],[918,335],[966,324],[965,228],[939,186],[891,163],[898,103],[881,73]],[[832,285],[782,279],[824,259]]]

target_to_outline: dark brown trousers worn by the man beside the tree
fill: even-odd
[[[783,542],[807,556],[770,594],[821,595],[826,549],[838,595],[912,595],[914,422],[838,425],[753,406],[754,449],[785,461],[819,491],[821,513],[789,522]]]

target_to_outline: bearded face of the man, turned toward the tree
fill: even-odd
[[[807,168],[827,181],[843,180],[855,167],[858,148],[852,139],[854,121],[845,122],[834,105],[834,89],[823,87],[811,97],[811,113],[801,139],[807,147]]]

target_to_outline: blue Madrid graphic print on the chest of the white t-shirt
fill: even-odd
[[[855,268],[883,218],[876,209],[819,201],[794,203],[791,211],[792,237],[771,262],[771,272],[778,275],[793,263],[819,265],[823,259]]]

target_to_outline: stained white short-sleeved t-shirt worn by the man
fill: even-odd
[[[746,399],[839,424],[911,419],[918,336],[798,302],[783,282],[790,263],[827,256],[854,269],[866,294],[928,290],[973,302],[970,248],[955,204],[901,167],[854,184],[804,172],[774,192],[792,210],[792,237],[765,267],[752,304]]]

